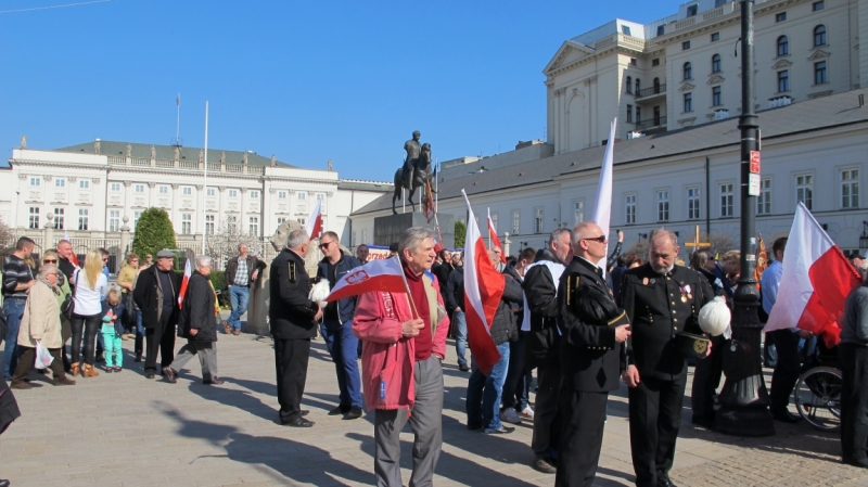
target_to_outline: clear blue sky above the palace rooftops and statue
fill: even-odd
[[[87,0],[3,0],[0,11]],[[413,130],[439,161],[545,138],[561,43],[681,0],[113,0],[0,13],[0,148],[181,138],[392,180]]]

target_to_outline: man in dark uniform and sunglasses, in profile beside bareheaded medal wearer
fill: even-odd
[[[618,388],[621,347],[629,323],[615,306],[602,269],[608,242],[597,223],[573,229],[573,260],[558,285],[561,437],[556,486],[590,486],[600,461],[609,392]],[[620,320],[618,320],[620,318]]]

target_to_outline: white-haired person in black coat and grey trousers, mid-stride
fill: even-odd
[[[171,366],[163,368],[163,375],[168,383],[175,384],[178,371],[197,355],[202,383],[222,384],[224,381],[217,377],[217,315],[220,309],[216,306],[217,295],[209,281],[210,257],[200,255],[195,267],[187,284],[178,320],[178,336],[187,338],[187,345],[178,350]]]

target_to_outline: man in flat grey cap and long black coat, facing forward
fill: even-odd
[[[175,254],[169,249],[156,253],[156,265],[139,274],[132,299],[142,311],[144,326],[145,358],[144,376],[154,379],[156,354],[159,368],[166,368],[175,359],[175,325],[178,324],[178,292],[180,279],[173,270]]]

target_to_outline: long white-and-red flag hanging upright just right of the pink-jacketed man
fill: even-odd
[[[468,343],[480,371],[488,375],[500,360],[500,353],[492,338],[492,324],[506,282],[488,258],[488,249],[485,248],[464,190],[461,190],[461,194],[468,204],[468,230],[464,239],[464,315],[468,321]]]

